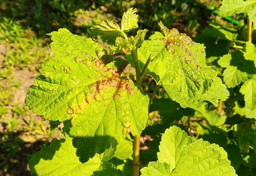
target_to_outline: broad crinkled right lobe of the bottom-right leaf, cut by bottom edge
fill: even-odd
[[[223,152],[222,147],[199,139],[184,147],[182,156],[172,174],[236,176],[234,168],[230,166],[227,155],[223,155]]]

